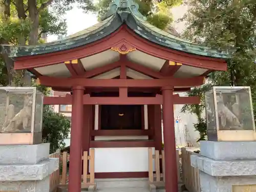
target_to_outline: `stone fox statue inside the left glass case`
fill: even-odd
[[[23,109],[16,115],[14,114],[14,105],[10,104],[6,110],[6,117],[3,126],[4,131],[26,130],[29,120],[32,116],[33,96],[25,96]]]

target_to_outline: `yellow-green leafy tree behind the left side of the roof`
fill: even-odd
[[[65,35],[67,26],[61,16],[74,3],[84,11],[94,10],[91,0],[0,0],[0,45],[36,45],[42,33]],[[12,59],[4,50],[0,52],[0,66],[4,61],[4,71],[8,72],[7,84],[30,84],[28,73],[14,71]]]

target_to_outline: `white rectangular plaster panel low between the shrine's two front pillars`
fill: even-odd
[[[147,147],[95,148],[95,173],[147,171]]]

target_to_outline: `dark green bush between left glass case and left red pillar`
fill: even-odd
[[[50,143],[50,153],[65,147],[64,139],[70,132],[70,120],[61,113],[55,113],[49,105],[44,106],[42,140]]]

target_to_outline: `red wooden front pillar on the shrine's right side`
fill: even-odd
[[[176,144],[174,129],[173,88],[163,87],[163,138],[165,156],[165,191],[178,191]]]

